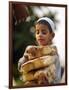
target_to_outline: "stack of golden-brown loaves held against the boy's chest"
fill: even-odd
[[[54,46],[32,46],[27,50],[29,50],[29,61],[21,66],[22,79],[24,82],[35,80],[37,78],[36,73],[45,72],[45,68],[48,68],[48,66],[54,62],[53,55],[57,53],[56,47]]]

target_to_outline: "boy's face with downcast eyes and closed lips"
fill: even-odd
[[[39,45],[45,46],[52,43],[53,35],[47,25],[36,24],[36,40]]]

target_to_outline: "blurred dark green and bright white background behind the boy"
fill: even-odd
[[[55,23],[54,44],[57,46],[61,64],[65,65],[65,8],[52,6],[25,5],[14,3],[13,10],[13,85],[22,85],[18,72],[18,60],[23,56],[26,46],[36,45],[35,21],[49,17]]]

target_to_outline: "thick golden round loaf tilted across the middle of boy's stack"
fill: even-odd
[[[43,57],[39,57],[37,59],[28,61],[21,66],[21,71],[29,72],[31,70],[48,67],[55,62],[55,58],[56,57],[54,56],[43,56]]]

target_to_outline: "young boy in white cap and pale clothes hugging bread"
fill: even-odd
[[[53,38],[55,36],[54,33],[54,23],[51,19],[48,17],[43,17],[37,20],[35,29],[36,29],[36,41],[40,47],[48,47],[50,48],[48,51],[50,53],[46,53],[48,56],[48,60],[46,60],[45,65],[47,67],[44,67],[43,69],[39,69],[34,73],[34,80],[31,80],[26,83],[26,85],[48,85],[48,84],[56,84],[60,82],[61,79],[61,67],[60,67],[60,62],[59,62],[59,56],[57,53],[57,49],[55,46],[53,46]],[[26,48],[26,51],[23,55],[23,57],[19,60],[18,62],[18,68],[20,70],[21,66],[34,58],[37,58],[37,56],[40,57],[39,53],[34,53],[37,50],[37,46],[28,46]],[[54,51],[51,52],[51,50]],[[33,53],[33,54],[30,54]],[[37,55],[38,54],[38,55]],[[49,58],[52,58],[49,60]],[[51,61],[51,63],[49,63]]]

